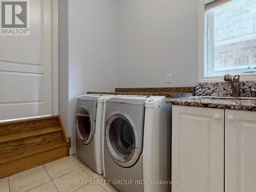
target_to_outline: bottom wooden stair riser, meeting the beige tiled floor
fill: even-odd
[[[47,163],[49,161],[59,159],[65,156],[67,156],[67,147],[61,147],[49,152],[33,155],[24,159],[19,159],[10,163],[6,163],[4,165],[0,165],[0,179],[20,172],[24,169],[28,169],[42,163]]]

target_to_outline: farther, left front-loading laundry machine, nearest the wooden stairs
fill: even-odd
[[[104,99],[111,95],[77,97],[75,113],[75,144],[77,157],[94,172],[103,173],[102,120]]]

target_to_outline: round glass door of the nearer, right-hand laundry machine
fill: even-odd
[[[138,133],[127,114],[115,112],[109,117],[105,127],[105,142],[112,159],[120,166],[130,167],[138,160]]]

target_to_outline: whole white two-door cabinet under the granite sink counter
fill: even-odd
[[[173,192],[256,191],[256,112],[175,105],[172,139]]]

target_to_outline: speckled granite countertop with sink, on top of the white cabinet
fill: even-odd
[[[169,104],[185,106],[201,106],[205,108],[233,109],[256,111],[256,98],[249,97],[205,97],[192,96],[183,98],[170,98]]]

